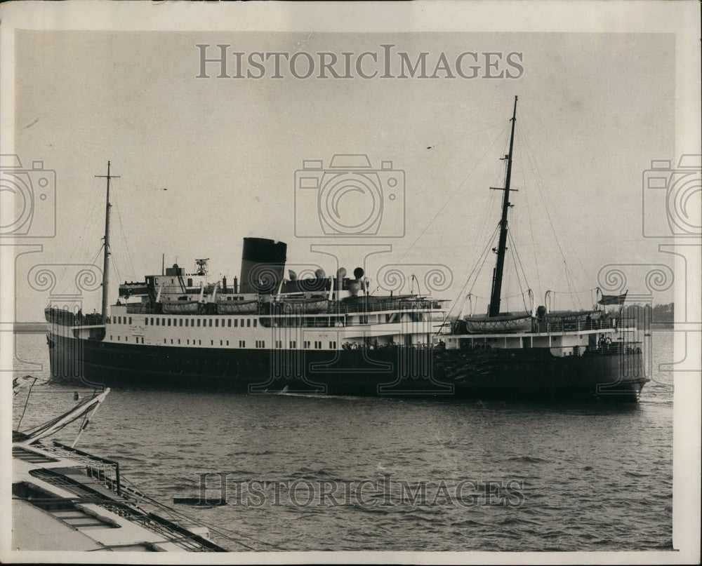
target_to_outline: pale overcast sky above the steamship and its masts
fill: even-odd
[[[676,157],[671,34],[18,31],[15,39],[15,147],[23,165],[43,160],[56,171],[58,210],[56,237],[43,241],[41,255],[18,260],[20,271],[95,258],[105,183],[93,175],[105,175],[110,160],[121,175],[113,184],[113,301],[118,278],[159,273],[161,253],[166,265],[177,257],[191,271],[196,257],[208,257],[213,276],[236,276],[244,236],[286,241],[289,262],[328,273],[336,262],[310,244],[336,245],[328,250],[348,271],[364,263],[364,250],[391,244],[365,262],[371,278],[383,264],[423,264],[404,268],[420,278],[426,265],[444,264],[453,283],[439,295],[456,298],[499,219],[500,195],[489,187],[503,184],[499,158],[515,95],[519,193],[510,230],[538,297],[593,288],[607,264],[668,262],[659,242],[642,236],[642,172],[651,159]],[[394,44],[432,62],[442,52],[449,60],[519,52],[524,70],[518,79],[197,79],[196,45],[211,44],[216,55],[217,43],[313,55]],[[405,212],[388,206],[381,224],[396,233],[404,222],[403,238],[343,247],[339,238],[296,236],[295,172],[303,160],[328,166],[333,154],[367,154],[374,168],[392,161],[404,171]],[[362,205],[345,198],[341,205]],[[511,256],[507,263],[504,296],[519,292]],[[493,264],[490,255],[476,295],[489,296]],[[645,292],[637,277],[632,292]],[[17,292],[18,319],[41,318],[46,294],[20,284]],[[563,297],[558,308],[573,306]],[[99,292],[86,302],[93,308]]]

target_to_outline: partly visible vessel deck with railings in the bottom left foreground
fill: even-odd
[[[28,397],[35,382],[32,376],[13,379],[13,396],[29,384]],[[211,540],[210,527],[135,488],[121,475],[119,461],[76,447],[108,393],[75,393],[76,404],[61,415],[13,430],[12,550],[227,552]],[[49,441],[74,422],[79,431],[73,443]],[[251,548],[220,536],[237,550]]]

